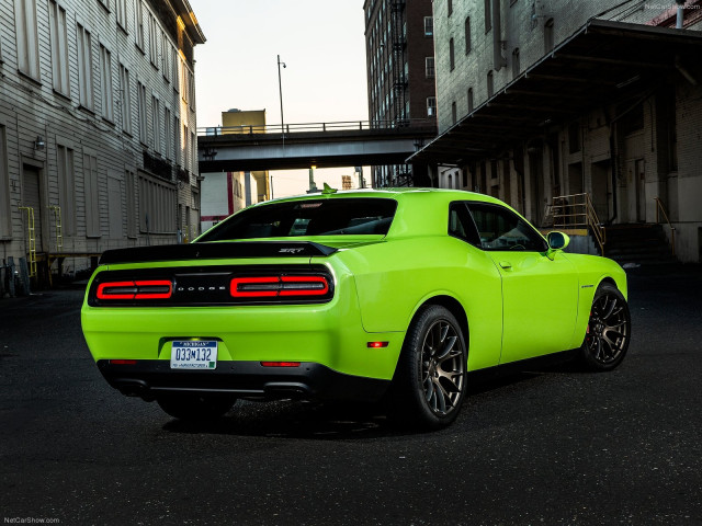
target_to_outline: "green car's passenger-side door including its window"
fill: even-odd
[[[568,348],[575,330],[578,275],[562,252],[509,208],[468,203],[480,237],[502,278],[500,363]]]

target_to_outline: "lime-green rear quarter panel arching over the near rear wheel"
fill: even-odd
[[[468,320],[468,368],[499,362],[501,283],[484,252],[444,235],[388,239],[333,258],[354,275],[366,331],[406,332],[424,302],[449,296]]]

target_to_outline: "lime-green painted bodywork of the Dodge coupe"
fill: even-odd
[[[338,250],[284,261],[325,265],[335,281],[331,301],[126,308],[91,307],[86,298],[81,322],[93,358],[168,361],[172,340],[215,339],[220,366],[229,361],[314,362],[348,375],[392,379],[412,317],[428,301],[448,297],[467,318],[468,370],[476,370],[579,346],[603,279],[626,297],[626,276],[613,261],[562,251],[551,258],[546,252],[484,251],[448,235],[452,202],[500,203],[495,198],[439,190],[324,197],[360,196],[397,201],[387,236],[295,237]],[[99,267],[92,279],[107,270],[244,264],[276,265],[281,260],[120,264]],[[369,348],[371,341],[389,343]]]

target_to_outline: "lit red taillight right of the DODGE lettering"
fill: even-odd
[[[234,298],[325,296],[329,282],[325,276],[235,277],[229,291]]]

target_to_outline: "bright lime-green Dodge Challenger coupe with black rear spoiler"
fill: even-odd
[[[246,208],[194,242],[106,251],[82,307],[97,365],[179,419],[236,399],[378,401],[451,423],[468,373],[562,352],[626,353],[624,271],[564,253],[468,192],[336,192]]]

